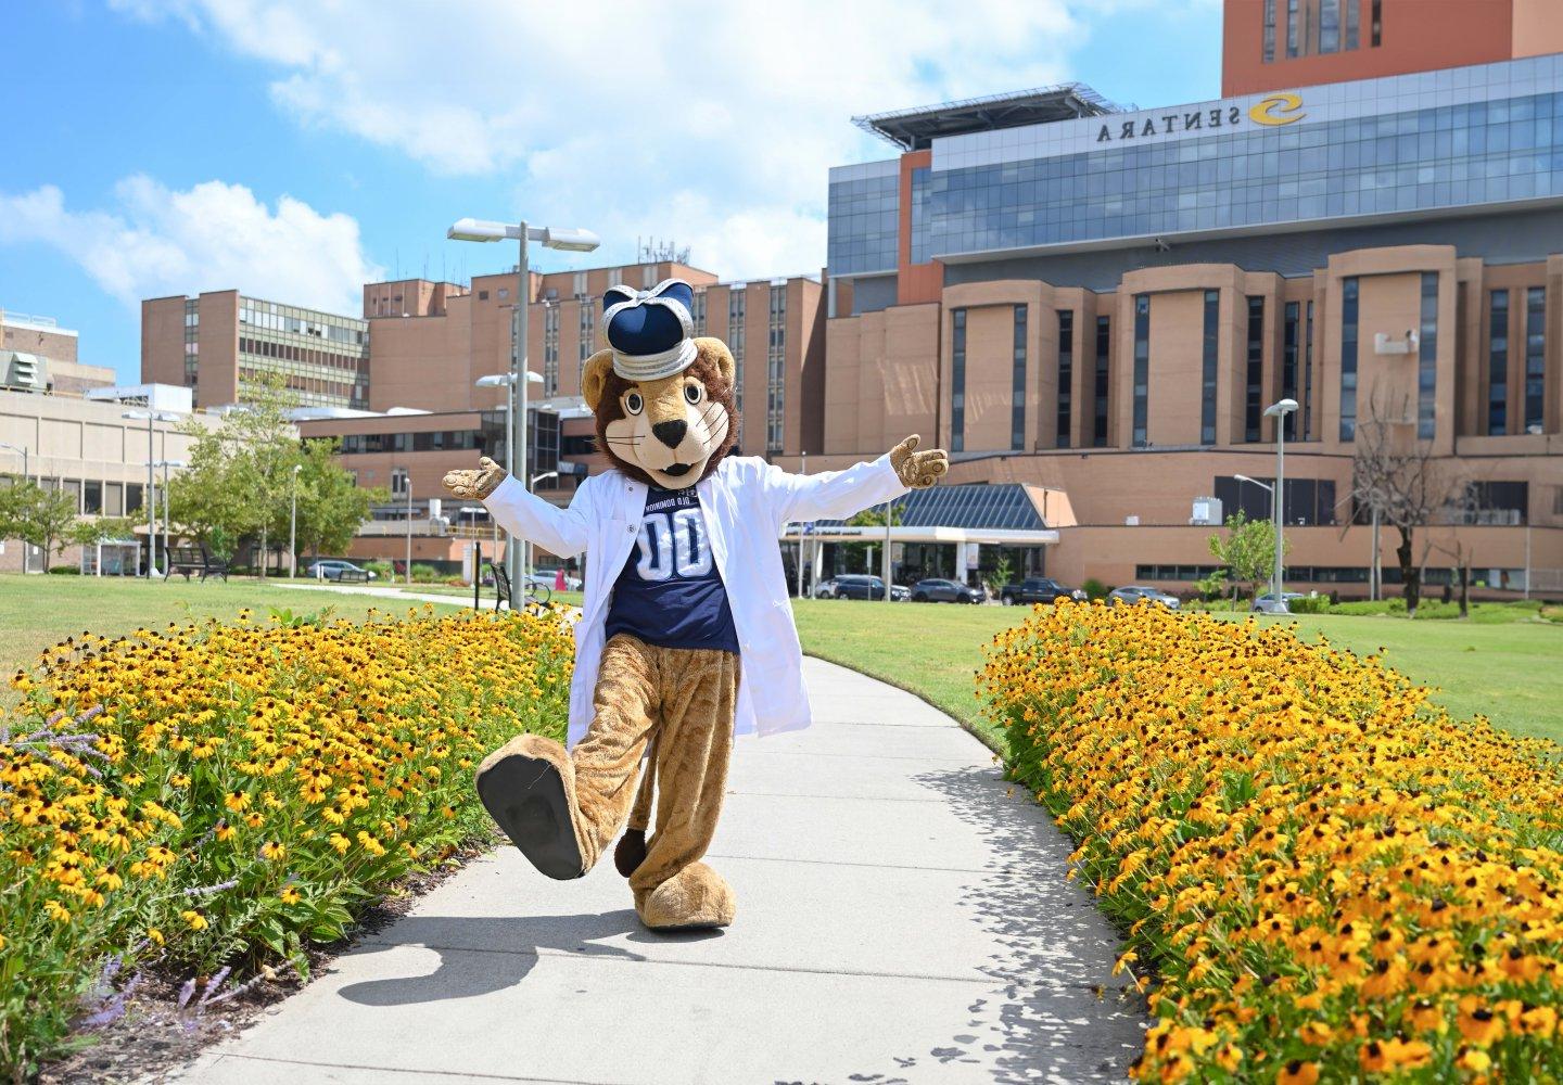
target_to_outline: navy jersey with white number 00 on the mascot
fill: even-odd
[[[694,486],[646,491],[636,546],[608,603],[605,635],[614,633],[658,647],[738,652],[733,611]]]

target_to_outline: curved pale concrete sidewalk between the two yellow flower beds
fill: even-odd
[[[610,861],[550,882],[505,849],[181,1080],[1122,1080],[1144,1007],[1046,810],[922,700],[807,674],[814,725],[735,752],[728,930],[652,935]]]

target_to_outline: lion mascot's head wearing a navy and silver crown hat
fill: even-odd
[[[581,374],[597,446],[624,474],[666,489],[710,475],[738,438],[733,355],[721,339],[691,335],[692,297],[675,278],[650,291],[611,288],[608,349]]]

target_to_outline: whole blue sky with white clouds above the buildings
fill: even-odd
[[[563,9],[561,9],[563,8]],[[139,299],[239,288],[358,311],[363,281],[500,270],[461,216],[674,238],[724,278],[817,272],[850,125],[1080,80],[1214,98],[1218,0],[13,3],[0,308],[139,380]],[[677,14],[667,14],[675,11]]]

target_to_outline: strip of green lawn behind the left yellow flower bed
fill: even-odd
[[[456,602],[456,600],[453,600]],[[234,577],[228,583],[170,580],[167,583],[120,577],[0,577],[0,680],[67,636],[84,630],[103,636],[128,633],[138,625],[163,628],[169,622],[233,619],[242,608],[267,618],[270,607],[294,614],[313,614],[327,607],[339,618],[361,619],[370,608],[400,611],[395,599],[355,597],[344,593],[294,591],[259,580]],[[422,607],[408,602],[406,607]],[[14,704],[0,682],[0,704]]]

